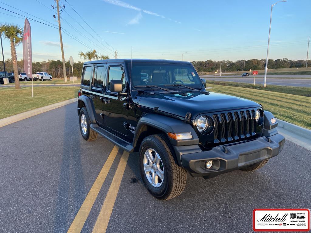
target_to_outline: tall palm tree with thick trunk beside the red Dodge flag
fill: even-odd
[[[23,41],[23,29],[18,25],[3,23],[0,25],[0,33],[4,35],[4,38],[10,40],[15,89],[21,89],[21,85],[19,83],[18,78],[17,56],[15,46],[19,45]]]

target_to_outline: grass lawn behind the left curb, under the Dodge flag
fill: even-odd
[[[6,87],[0,89],[0,119],[78,97],[80,87]]]

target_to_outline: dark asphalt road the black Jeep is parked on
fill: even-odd
[[[0,141],[0,232],[67,232],[114,148],[101,137],[82,139],[76,103],[4,126]],[[184,192],[168,201],[144,188],[136,153],[123,178],[115,176],[122,154],[116,153],[81,232],[93,231],[115,181],[121,183],[107,232],[253,232],[253,208],[311,207],[311,152],[290,141],[258,171],[188,176]]]

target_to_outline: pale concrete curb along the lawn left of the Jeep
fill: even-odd
[[[21,120],[24,120],[28,117],[33,117],[33,116],[38,115],[40,113],[47,112],[47,111],[53,110],[53,109],[58,108],[58,107],[62,107],[64,105],[74,103],[76,101],[78,101],[78,98],[68,99],[68,100],[65,100],[62,102],[53,103],[53,104],[48,105],[48,106],[39,107],[39,108],[36,108],[34,110],[30,110],[27,112],[22,112],[22,113],[19,113],[17,115],[11,116],[11,117],[3,118],[0,120],[0,127],[7,126],[7,125],[12,124],[16,121],[21,121]]]

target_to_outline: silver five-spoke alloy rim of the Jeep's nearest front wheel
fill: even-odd
[[[143,158],[145,175],[149,183],[158,188],[164,181],[163,163],[158,152],[149,148],[146,150]]]

